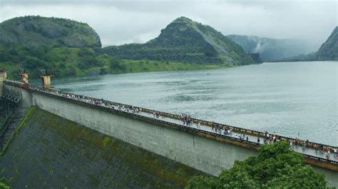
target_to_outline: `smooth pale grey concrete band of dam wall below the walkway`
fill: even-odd
[[[84,106],[81,103],[26,91],[15,86],[5,88],[6,91],[20,95],[27,105],[37,106],[210,175],[218,175],[222,169],[232,167],[235,160],[244,160],[257,154],[255,150],[157,126],[99,108]]]

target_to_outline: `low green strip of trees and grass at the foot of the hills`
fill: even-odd
[[[34,47],[32,47],[34,48]],[[175,71],[187,69],[223,68],[227,64],[198,64],[176,61],[126,60],[118,56],[108,56],[93,48],[48,48],[41,51],[26,46],[0,46],[0,57],[6,54],[1,67],[6,68],[9,76],[17,76],[19,68],[26,68],[30,78],[37,78],[41,68],[48,69],[55,77],[86,76],[107,73],[129,73],[145,71]],[[31,53],[33,52],[33,53]],[[39,53],[43,52],[43,53]],[[19,79],[19,78],[17,78]]]

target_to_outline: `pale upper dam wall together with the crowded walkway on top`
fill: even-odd
[[[180,115],[17,81],[4,81],[3,96],[19,100],[25,107],[39,107],[210,175],[218,175],[222,169],[230,168],[235,160],[257,154],[256,150],[262,143],[269,143],[275,138],[289,141],[295,150],[304,155],[306,163],[329,173],[329,183],[337,185],[334,178],[337,178],[338,162],[333,158],[327,159],[324,153],[337,148],[331,145],[267,136],[260,131],[197,118],[190,118],[190,124],[187,124]]]

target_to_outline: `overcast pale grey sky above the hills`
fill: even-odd
[[[319,46],[338,25],[337,9],[337,0],[0,0],[0,21],[26,15],[74,19],[88,23],[108,46],[144,43],[187,16],[225,35],[306,39]]]

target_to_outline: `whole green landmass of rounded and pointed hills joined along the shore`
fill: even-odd
[[[47,69],[55,77],[106,73],[224,68],[260,63],[210,26],[180,17],[146,44],[101,48],[96,32],[70,19],[24,16],[0,23],[0,67],[9,78],[25,68],[31,78]]]

